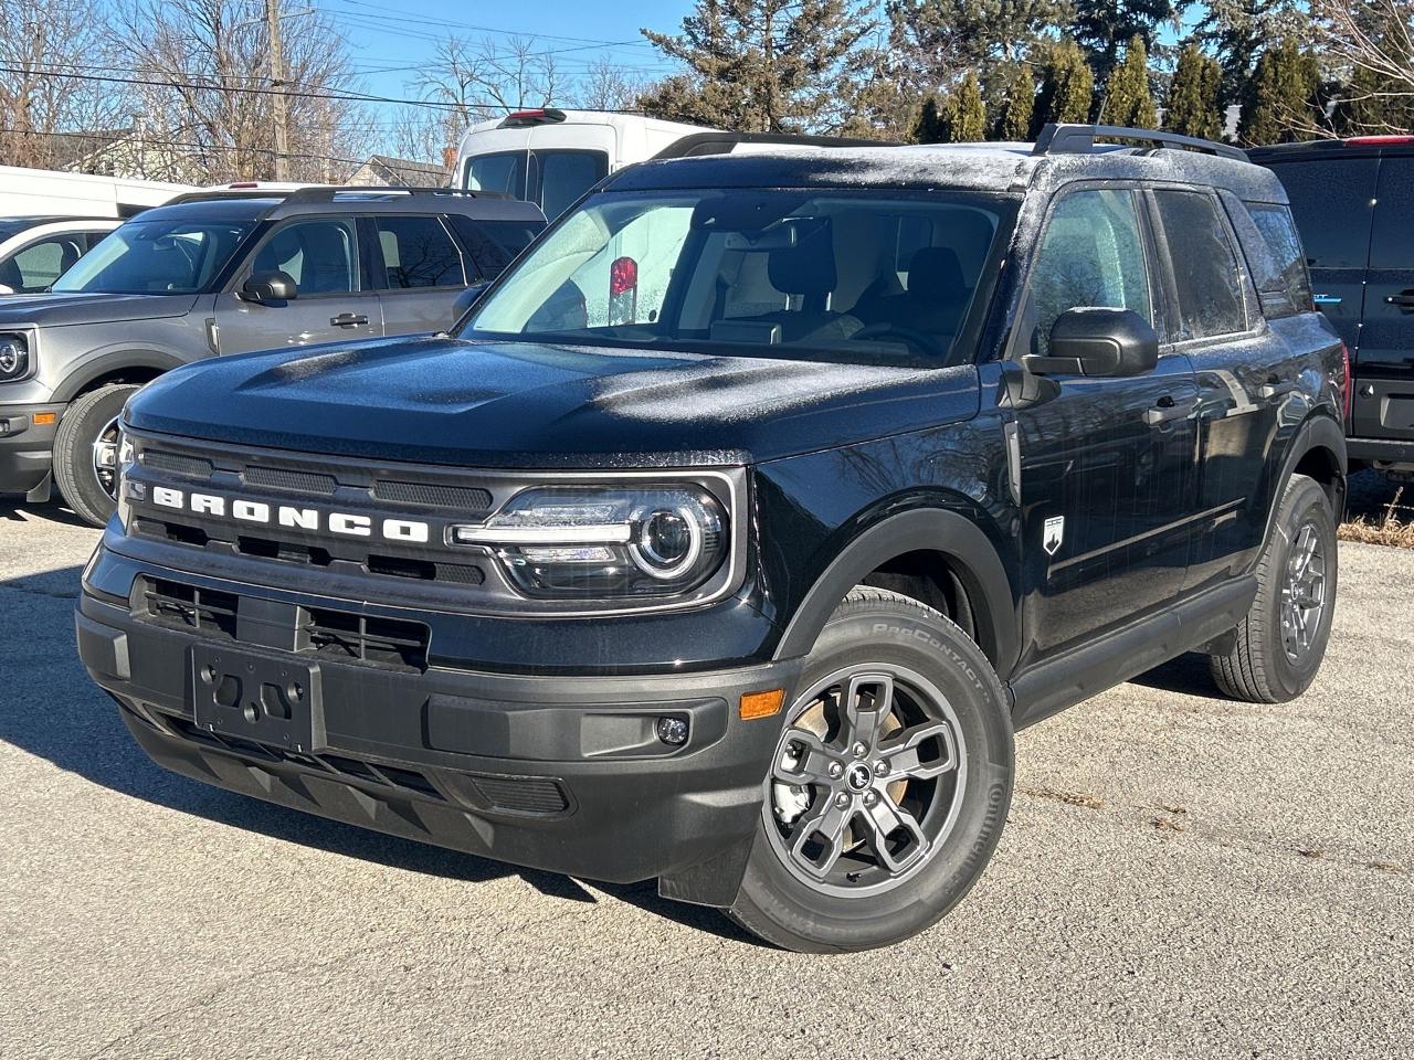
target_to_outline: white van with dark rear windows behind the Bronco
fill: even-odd
[[[615,170],[706,131],[715,130],[604,110],[518,110],[461,139],[452,187],[526,199],[554,220]]]

